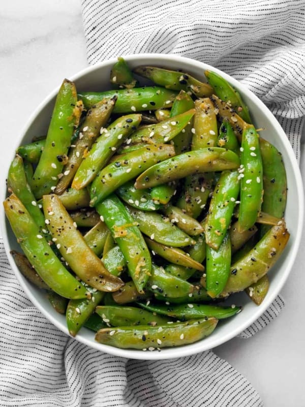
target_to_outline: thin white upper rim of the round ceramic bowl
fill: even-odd
[[[181,63],[181,64],[191,64],[194,67],[194,70],[202,70],[202,69],[211,69],[218,74],[222,75],[226,80],[228,80],[235,88],[237,88],[241,93],[248,94],[251,96],[251,98],[254,100],[254,103],[258,105],[260,109],[265,110],[265,114],[268,117],[268,120],[270,120],[272,126],[275,127],[276,131],[280,134],[281,141],[284,144],[284,148],[287,152],[288,159],[290,160],[290,163],[292,165],[293,169],[293,175],[295,178],[296,186],[297,186],[297,202],[299,206],[299,213],[298,213],[298,226],[297,230],[295,232],[295,239],[293,242],[293,245],[290,249],[289,252],[289,262],[288,262],[288,267],[286,268],[285,272],[282,275],[281,280],[278,282],[278,287],[275,293],[273,295],[269,296],[268,300],[265,299],[263,303],[257,307],[256,311],[253,312],[252,316],[247,319],[247,321],[241,325],[239,325],[237,328],[231,330],[230,332],[226,333],[225,335],[222,335],[220,338],[214,338],[214,342],[212,346],[205,346],[204,339],[200,340],[198,342],[195,342],[193,344],[189,345],[184,345],[184,346],[179,346],[179,347],[172,347],[172,348],[165,348],[162,349],[161,352],[142,352],[142,351],[135,351],[135,350],[130,350],[130,349],[121,349],[121,348],[116,348],[113,346],[109,345],[103,345],[98,342],[95,342],[94,340],[89,340],[86,337],[83,337],[82,335],[77,335],[74,339],[78,340],[79,342],[94,348],[95,350],[105,352],[107,354],[111,354],[113,356],[120,356],[120,357],[126,357],[126,358],[133,358],[133,359],[141,359],[141,360],[158,360],[158,359],[173,359],[173,358],[180,358],[180,357],[186,357],[190,355],[194,355],[203,351],[208,351],[211,350],[212,348],[219,346],[228,340],[236,337],[239,333],[241,333],[243,330],[247,329],[251,324],[253,324],[264,312],[265,310],[270,306],[270,304],[275,300],[277,295],[280,293],[283,285],[285,284],[290,271],[293,267],[294,261],[297,256],[298,248],[300,246],[300,241],[301,241],[301,234],[302,234],[302,227],[303,227],[303,217],[304,217],[304,195],[303,195],[303,184],[302,184],[302,179],[301,179],[301,173],[300,173],[300,168],[297,163],[295,154],[293,152],[293,149],[291,147],[291,144],[288,140],[288,137],[284,130],[282,129],[281,125],[279,124],[278,120],[275,118],[275,116],[270,112],[270,110],[266,107],[266,105],[250,90],[247,88],[246,85],[243,83],[237,81],[234,79],[232,76],[226,74],[225,72],[209,65],[204,62],[196,61],[193,60],[189,57],[185,56],[180,56],[176,54],[162,54],[162,53],[139,53],[139,54],[126,54],[126,55],[121,55],[127,62],[130,63],[135,63],[139,60],[145,60],[145,59],[151,59],[154,60],[155,65],[162,66],[162,61],[166,62],[166,64],[169,64],[171,61],[176,62],[176,63]],[[112,59],[109,59],[107,61],[100,62],[98,64],[95,64],[93,66],[86,67],[82,69],[81,71],[77,72],[76,74],[72,75],[70,80],[71,81],[77,81],[83,77],[83,75],[87,75],[90,72],[94,72],[96,70],[99,70],[103,67],[108,67],[113,65],[117,61],[117,58],[114,57]],[[55,88],[52,92],[49,93],[49,95],[42,100],[42,102],[36,107],[36,109],[33,111],[33,113],[30,115],[28,120],[26,121],[23,129],[21,130],[21,133],[19,134],[18,137],[16,137],[16,148],[20,145],[20,140],[24,135],[27,133],[27,131],[31,128],[33,125],[33,122],[39,112],[56,96],[58,93],[59,86]],[[18,143],[19,142],[19,143]],[[15,151],[15,150],[14,150]],[[13,154],[13,153],[12,153]],[[8,164],[10,165],[10,163]],[[6,177],[8,173],[9,167],[5,168],[4,171],[4,178]],[[3,176],[2,176],[3,177]],[[3,180],[5,181],[5,179]],[[4,182],[2,182],[1,185],[4,185]],[[6,193],[2,191],[2,197],[5,198],[7,196]],[[6,250],[6,254],[9,259],[10,266],[12,267],[15,276],[17,277],[20,285],[22,286],[26,296],[31,300],[31,302],[43,313],[43,315],[46,316],[46,318],[56,326],[60,331],[64,332],[71,338],[73,338],[69,332],[68,328],[64,327],[62,323],[58,321],[53,315],[51,315],[38,301],[38,299],[35,297],[34,292],[29,289],[27,282],[25,281],[24,277],[21,275],[19,272],[17,266],[15,265],[15,262],[13,260],[13,257],[10,254],[10,244],[8,240],[8,235],[6,233],[6,216],[4,213],[4,210],[2,209],[2,216],[0,219],[0,230],[2,230],[2,236],[3,236],[3,241],[4,241],[4,247]]]

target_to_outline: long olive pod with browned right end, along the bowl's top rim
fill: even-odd
[[[151,66],[139,66],[134,68],[133,72],[166,89],[191,91],[198,97],[211,96],[213,92],[208,83],[200,82],[187,73]]]

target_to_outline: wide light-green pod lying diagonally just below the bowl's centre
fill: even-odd
[[[169,218],[155,212],[144,212],[131,207],[127,209],[137,221],[141,232],[151,240],[172,247],[189,246],[195,243],[189,235],[170,222]]]

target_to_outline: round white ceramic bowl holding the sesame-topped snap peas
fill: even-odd
[[[279,294],[283,284],[289,276],[300,244],[304,207],[302,181],[297,161],[286,134],[268,108],[252,92],[250,92],[246,86],[240,84],[232,77],[215,69],[214,67],[185,57],[165,54],[138,54],[127,55],[125,56],[125,59],[128,61],[131,67],[135,67],[137,65],[156,65],[174,70],[180,69],[184,72],[188,72],[198,79],[204,78],[205,69],[214,70],[221,74],[240,92],[242,98],[248,104],[256,127],[265,128],[263,137],[274,144],[274,146],[276,146],[282,153],[287,171],[288,199],[285,218],[291,237],[280,260],[268,274],[270,279],[270,288],[266,298],[260,306],[255,305],[243,293],[234,295],[233,301],[234,303],[243,306],[242,312],[232,318],[227,319],[226,321],[222,321],[215,331],[209,337],[203,340],[190,345],[164,349],[161,352],[121,350],[119,348],[102,345],[95,341],[94,333],[85,328],[83,328],[76,336],[76,340],[112,355],[134,359],[177,358],[209,350],[233,338],[256,321],[256,319],[266,310],[266,308],[268,308],[271,302]],[[109,73],[115,61],[116,59],[112,59],[93,67],[89,67],[69,79],[75,81],[77,90],[79,91],[102,91],[110,89]],[[62,82],[62,80],[63,78],[58,78],[58,85]],[[38,106],[36,111],[32,114],[32,117],[29,118],[24,131],[22,134],[20,134],[20,137],[16,142],[16,148],[20,144],[30,142],[32,137],[37,134],[46,134],[57,92],[58,89],[54,90]],[[10,154],[11,159],[13,159],[14,151],[10,151],[8,154]],[[7,194],[4,180],[7,172],[8,168],[5,169],[3,177],[1,200],[4,200]],[[6,221],[3,210],[0,221],[0,228],[3,230],[4,243],[10,264],[26,295],[57,328],[69,335],[66,327],[65,316],[56,313],[49,304],[44,293],[29,283],[17,269],[15,262],[10,255],[10,250],[18,249],[18,244],[11,231],[10,225]]]

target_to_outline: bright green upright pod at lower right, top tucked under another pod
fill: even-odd
[[[231,243],[227,233],[218,250],[206,246],[206,292],[216,298],[226,286],[230,274]]]

